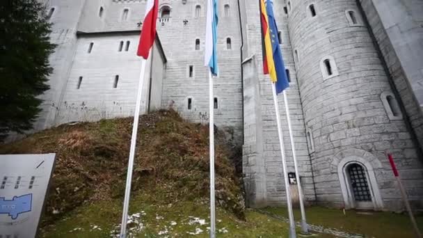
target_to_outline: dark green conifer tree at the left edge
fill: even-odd
[[[0,1],[0,136],[33,128],[52,72],[50,29],[38,0]]]

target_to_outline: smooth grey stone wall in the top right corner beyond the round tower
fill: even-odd
[[[423,22],[420,14],[423,3],[396,0],[360,2],[423,150],[423,47],[420,46],[423,30],[419,26],[419,22]],[[379,10],[374,3],[378,3]],[[381,14],[384,22],[379,17]],[[390,31],[389,35],[387,31]],[[422,98],[418,100],[417,97]]]

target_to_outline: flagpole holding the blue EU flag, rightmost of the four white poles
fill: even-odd
[[[283,91],[283,101],[285,102],[285,111],[287,112],[289,138],[291,139],[292,157],[294,159],[294,169],[295,169],[295,177],[296,177],[296,186],[297,186],[297,189],[298,189],[298,196],[299,196],[299,199],[300,199],[301,231],[303,233],[307,234],[308,233],[308,228],[307,228],[307,221],[305,221],[305,209],[304,209],[304,202],[303,202],[303,189],[301,189],[300,175],[298,173],[298,166],[297,166],[297,163],[296,163],[295,142],[294,142],[294,136],[292,135],[291,117],[289,116],[288,97],[287,97],[286,90]]]

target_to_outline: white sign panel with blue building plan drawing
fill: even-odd
[[[0,238],[35,237],[55,155],[0,155]]]

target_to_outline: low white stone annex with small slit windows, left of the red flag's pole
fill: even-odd
[[[136,93],[141,72],[141,58],[136,56],[139,33],[120,35],[83,36],[78,39],[74,63],[67,80],[65,95],[56,124],[79,120],[100,120],[134,116]],[[118,51],[120,41],[125,42],[122,51]],[[125,51],[129,41],[129,50]],[[93,49],[88,47],[93,42]],[[161,56],[157,54],[154,71],[163,72]],[[146,63],[143,77],[143,97],[141,113],[147,112],[149,95],[151,57]],[[118,86],[113,88],[115,75],[119,75]],[[152,81],[161,88],[160,74]],[[83,77],[80,88],[77,88],[79,77]],[[161,91],[159,91],[161,96]],[[157,99],[156,99],[157,103]]]

